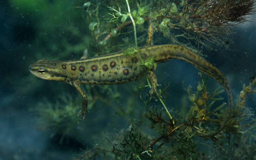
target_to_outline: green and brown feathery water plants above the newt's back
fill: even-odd
[[[223,37],[231,33],[230,26],[246,21],[247,16],[253,14],[254,6],[254,0],[172,0],[170,2],[152,0],[148,4],[135,1],[130,3],[130,8],[133,10],[129,15],[124,0],[109,2],[105,10],[104,5],[94,3],[94,1],[86,2],[84,8],[98,49],[108,48],[109,45],[112,49],[119,47],[117,50],[134,46],[137,42],[129,36],[125,37],[126,39],[122,38],[126,46],[117,43],[120,35],[133,31],[132,20],[129,20],[129,16],[132,16],[137,25],[136,32],[141,35],[138,36],[138,44],[145,43],[143,37],[146,37],[148,25],[144,22],[150,20],[154,32],[162,33],[163,39],[168,37],[170,43],[188,47],[197,53],[200,53],[198,50],[201,45],[207,46],[205,40],[216,45],[223,43]],[[104,10],[107,14],[101,13],[100,10]],[[107,43],[108,39],[110,43]],[[158,43],[161,40],[154,39],[154,41]]]

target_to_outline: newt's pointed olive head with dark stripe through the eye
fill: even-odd
[[[65,76],[58,73],[58,61],[40,59],[31,64],[28,69],[35,76],[46,80],[64,81]]]

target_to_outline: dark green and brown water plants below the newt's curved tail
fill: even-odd
[[[188,99],[191,101],[190,111],[179,113],[172,110],[174,119],[168,119],[168,115],[160,107],[161,104],[154,106],[151,98],[146,98],[146,101],[142,99],[147,110],[144,116],[152,124],[152,130],[158,133],[158,137],[130,125],[128,129],[120,131],[119,135],[114,138],[104,136],[109,145],[104,143],[104,147],[91,148],[78,159],[91,159],[96,156],[106,159],[111,159],[111,157],[116,159],[254,158],[256,119],[251,109],[245,107],[244,103],[249,94],[256,92],[256,88],[252,89],[256,78],[244,88],[246,92],[241,92],[242,95],[240,94],[237,100],[236,108],[232,111],[228,124],[221,134],[210,138],[211,142],[206,141],[207,139],[200,135],[214,131],[220,121],[223,121],[223,116],[227,111],[221,108],[226,103],[217,105],[217,101],[223,100],[218,96],[223,90],[217,88],[210,94],[206,87],[208,77],[203,79],[200,74],[200,78],[202,82],[198,83],[195,91],[190,86],[187,90]],[[165,96],[164,92],[161,95]],[[164,115],[162,115],[163,111]],[[202,150],[202,147],[206,148]],[[206,150],[210,152],[207,153]],[[245,150],[246,152],[242,152]]]

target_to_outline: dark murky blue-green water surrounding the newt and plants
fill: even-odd
[[[148,94],[149,88],[134,89],[146,85],[146,78],[107,88],[84,86],[86,93],[96,90],[94,93],[102,94],[89,94],[90,100],[97,97],[99,101],[89,106],[85,119],[77,124],[80,117],[76,114],[82,98],[76,89],[30,74],[28,66],[36,60],[79,59],[83,50],[94,43],[89,39],[92,35],[81,8],[83,4],[82,0],[0,2],[0,159],[71,159],[83,155],[82,151],[88,148],[107,143],[105,135],[115,136],[118,130],[131,124],[140,125],[144,133],[157,136],[145,121],[141,121],[146,110],[140,95]],[[239,96],[243,84],[248,84],[250,77],[256,75],[255,15],[249,20],[236,27],[222,46],[203,49],[204,58],[230,81],[234,99]],[[93,55],[92,52],[89,51],[89,55]],[[180,60],[159,64],[156,76],[158,84],[165,86],[170,83],[166,100],[168,108],[179,108],[182,96],[186,94],[184,87],[192,85],[195,88],[200,81],[198,70]],[[209,84],[213,88],[220,86],[212,78]],[[107,101],[106,96],[115,99]],[[252,111],[255,111],[255,96],[252,94],[246,103]],[[132,105],[127,108],[129,103]],[[42,123],[53,115],[45,113],[39,118],[40,113],[35,111],[39,107],[65,107],[69,104],[76,106],[75,116],[67,116],[54,124],[51,121],[48,125]]]

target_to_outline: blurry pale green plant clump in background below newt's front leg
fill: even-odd
[[[80,109],[78,99],[73,100],[70,94],[60,94],[55,102],[47,100],[40,101],[30,111],[36,113],[36,123],[39,129],[46,128],[52,131],[52,137],[60,135],[61,144],[66,134],[74,129],[77,123],[77,113]]]

